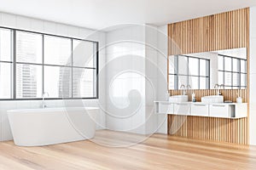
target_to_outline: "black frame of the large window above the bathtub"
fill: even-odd
[[[88,97],[88,98],[74,98],[73,97],[73,76],[72,76],[72,97],[71,98],[45,98],[45,99],[99,99],[99,42],[97,41],[91,41],[91,40],[84,40],[76,37],[66,37],[66,36],[60,36],[60,35],[55,35],[55,34],[49,34],[49,33],[43,33],[43,32],[38,32],[38,31],[27,31],[27,30],[21,30],[21,29],[16,29],[16,28],[10,28],[10,27],[5,27],[5,26],[0,26],[0,29],[6,29],[12,31],[12,61],[3,61],[3,63],[12,63],[12,69],[13,69],[13,77],[12,77],[12,98],[11,99],[0,99],[2,100],[42,100],[43,98],[17,98],[16,96],[16,64],[26,64],[26,65],[42,65],[43,66],[43,75],[42,75],[42,87],[43,87],[43,93],[44,93],[44,37],[45,36],[50,36],[50,37],[61,37],[61,38],[67,38],[71,40],[71,55],[72,55],[72,60],[73,60],[73,40],[79,40],[79,41],[84,41],[84,42],[93,42],[96,47],[95,48],[95,59],[96,59],[96,65],[95,67],[80,67],[80,66],[73,66],[73,62],[71,66],[67,65],[49,65],[49,66],[63,66],[63,67],[70,67],[72,68],[84,68],[84,69],[93,69],[96,71],[96,77],[95,77],[95,82],[94,82],[94,88],[96,89],[96,96],[95,97]],[[43,57],[43,63],[42,64],[32,64],[29,62],[16,62],[17,54],[16,54],[16,32],[17,31],[22,31],[22,32],[27,32],[27,33],[32,33],[32,34],[39,34],[42,35],[43,39],[43,50],[42,50],[42,57]],[[2,61],[1,61],[2,62]],[[73,71],[72,71],[73,72]]]

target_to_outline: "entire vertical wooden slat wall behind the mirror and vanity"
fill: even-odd
[[[244,102],[249,90],[249,8],[213,14],[168,25],[168,54],[193,54],[228,48],[247,48],[247,89],[241,90]],[[236,102],[237,90],[222,90],[224,99]],[[171,95],[180,90],[170,90]],[[191,94],[191,93],[189,93]],[[197,100],[215,90],[195,90]],[[189,98],[190,99],[190,98]],[[249,116],[249,114],[248,114]],[[183,124],[179,130],[179,124]],[[168,116],[171,135],[193,139],[248,144],[248,118],[224,119],[200,116]]]

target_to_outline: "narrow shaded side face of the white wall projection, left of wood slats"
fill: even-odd
[[[154,111],[154,101],[158,97],[158,79],[160,76],[158,74],[158,58],[160,53],[158,47],[159,31],[156,26],[151,25],[146,25],[145,31],[145,75],[147,77],[145,82],[145,130],[147,134],[151,134],[158,130],[158,115]],[[166,84],[166,82],[164,83]]]

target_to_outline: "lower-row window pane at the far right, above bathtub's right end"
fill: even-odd
[[[96,71],[94,69],[73,68],[73,97],[96,97]]]

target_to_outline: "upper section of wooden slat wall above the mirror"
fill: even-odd
[[[248,47],[249,8],[168,25],[168,54]]]

